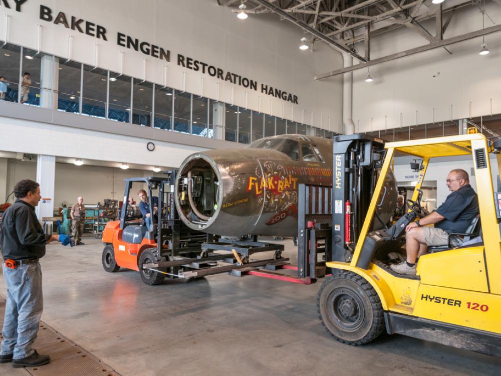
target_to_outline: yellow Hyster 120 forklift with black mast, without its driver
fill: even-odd
[[[489,163],[489,153],[501,152],[501,142],[492,144],[474,131],[386,143],[372,199],[366,204],[350,192],[358,176],[353,155],[363,150],[364,140],[360,136],[335,138],[333,203],[339,202],[339,208],[333,214],[333,253],[326,264],[332,275],[319,290],[318,311],[337,340],[364,344],[386,329],[390,334],[501,355],[501,192],[493,192]],[[417,166],[412,200],[407,201],[408,212],[395,224],[381,228],[375,226],[377,208],[396,152],[422,162]],[[460,246],[430,247],[419,258],[416,275],[395,273],[390,265],[405,260],[406,226],[427,214],[420,205],[420,187],[430,159],[460,155],[472,158],[479,220],[475,218],[464,234],[449,235],[449,245],[459,242]],[[358,205],[358,212],[365,215],[361,227],[347,220],[352,210],[345,212],[341,205],[350,195],[355,201],[350,204]]]

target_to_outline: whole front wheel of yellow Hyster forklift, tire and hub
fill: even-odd
[[[320,321],[338,341],[361,345],[385,328],[381,300],[370,283],[353,272],[339,270],[318,292]]]

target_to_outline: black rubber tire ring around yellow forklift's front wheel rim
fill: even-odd
[[[337,336],[336,334],[332,333],[326,323],[324,322],[324,318],[322,317],[322,314],[320,312],[320,306],[321,304],[325,304],[325,302],[321,302],[320,298],[322,295],[322,292],[324,289],[333,281],[340,280],[340,279],[346,279],[351,282],[356,283],[366,294],[367,298],[370,301],[371,308],[372,308],[372,323],[370,326],[370,329],[367,331],[367,333],[360,338],[359,340],[352,341],[348,340],[346,338],[341,338]],[[376,290],[371,286],[371,284],[363,277],[361,277],[358,274],[355,274],[353,272],[347,271],[347,270],[336,270],[332,276],[326,278],[326,281],[322,284],[322,287],[320,287],[317,295],[317,312],[319,314],[320,322],[322,325],[325,327],[325,329],[331,334],[332,337],[334,337],[336,340],[338,340],[341,343],[346,343],[349,345],[353,346],[358,346],[362,345],[365,343],[369,343],[372,340],[376,339],[385,329],[385,323],[384,323],[384,316],[383,316],[383,307],[381,304],[381,299],[379,299],[378,294],[376,293]]]

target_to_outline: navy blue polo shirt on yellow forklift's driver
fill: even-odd
[[[478,211],[478,197],[470,184],[452,192],[436,210],[443,219],[435,224],[436,228],[450,233],[464,233]]]

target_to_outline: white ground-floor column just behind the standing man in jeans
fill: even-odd
[[[40,184],[42,200],[35,208],[39,221],[42,217],[54,216],[54,185],[56,181],[56,157],[54,155],[38,155],[37,182]]]

